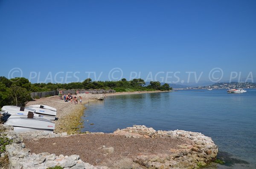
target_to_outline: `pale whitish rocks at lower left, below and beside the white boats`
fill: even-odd
[[[6,145],[6,153],[8,155],[9,169],[47,169],[48,167],[61,166],[65,169],[107,169],[105,166],[93,166],[84,163],[79,155],[55,155],[48,152],[39,154],[30,153],[30,149],[26,149],[23,137],[26,138],[45,138],[45,137],[67,137],[67,133],[46,134],[45,132],[22,133],[23,136],[16,134],[12,126],[0,125],[1,135],[5,135],[12,139],[12,144]]]

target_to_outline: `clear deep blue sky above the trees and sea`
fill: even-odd
[[[255,0],[0,0],[0,76],[251,81],[255,9]]]

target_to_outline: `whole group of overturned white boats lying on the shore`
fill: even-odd
[[[4,124],[12,125],[14,131],[33,132],[43,131],[53,133],[57,109],[46,105],[32,105],[28,107],[3,106],[0,112]]]

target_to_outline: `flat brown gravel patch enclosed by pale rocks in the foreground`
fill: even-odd
[[[119,168],[122,159],[130,159],[131,166],[134,158],[140,153],[168,154],[172,149],[179,149],[181,144],[189,141],[174,138],[128,138],[122,135],[87,134],[73,137],[47,138],[40,140],[25,140],[26,148],[32,153],[49,152],[56,155],[80,155],[81,160],[92,165],[108,166],[110,169]],[[106,152],[104,147],[113,147],[113,152]],[[121,165],[121,166],[122,166]],[[139,165],[137,168],[140,168]]]

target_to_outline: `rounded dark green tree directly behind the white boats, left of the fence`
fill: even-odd
[[[12,105],[22,105],[25,106],[26,103],[31,100],[30,92],[26,88],[12,84],[10,87],[12,96]]]

